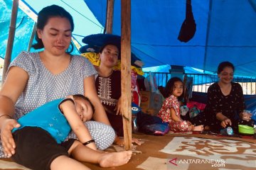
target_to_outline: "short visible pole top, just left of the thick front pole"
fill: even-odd
[[[106,33],[112,34],[114,16],[114,0],[107,0]]]

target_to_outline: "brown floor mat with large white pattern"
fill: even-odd
[[[165,136],[137,135],[144,144],[134,145],[132,159],[123,166],[100,168],[84,163],[90,169],[246,169],[256,167],[256,141],[240,137],[169,133]],[[107,152],[124,147],[112,145]],[[135,152],[136,151],[136,152]],[[139,154],[141,152],[141,154]],[[86,153],[85,153],[86,154]],[[208,161],[210,160],[210,161]],[[26,169],[10,159],[0,159],[0,169]]]

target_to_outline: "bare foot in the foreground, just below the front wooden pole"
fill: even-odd
[[[132,151],[110,152],[102,154],[100,166],[103,168],[127,164],[132,157]]]

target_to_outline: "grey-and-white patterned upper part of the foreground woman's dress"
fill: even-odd
[[[44,66],[38,52],[21,52],[10,65],[14,66],[24,69],[29,77],[15,105],[16,119],[48,101],[84,94],[82,80],[97,73],[92,64],[79,55],[72,56],[69,67],[57,75]]]

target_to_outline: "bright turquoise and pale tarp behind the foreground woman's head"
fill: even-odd
[[[9,35],[9,25],[11,21],[12,0],[0,0],[0,57],[4,58]],[[11,55],[12,60],[21,50],[27,50],[28,42],[36,21],[36,15],[45,6],[56,4],[65,8],[75,22],[73,38],[82,45],[82,38],[93,33],[102,33],[103,27],[95,19],[92,12],[87,8],[83,0],[20,0],[18,16],[16,21],[16,33],[14,38],[14,48]],[[22,9],[22,10],[21,10]],[[25,11],[25,12],[23,12]],[[31,18],[32,17],[32,18]],[[35,21],[34,21],[35,20]],[[33,49],[31,49],[33,51]],[[73,54],[78,54],[75,50]]]

